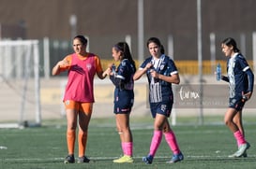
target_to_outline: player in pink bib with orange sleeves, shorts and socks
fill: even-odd
[[[90,162],[85,156],[87,131],[94,103],[93,80],[95,74],[103,79],[102,67],[97,55],[86,51],[87,39],[77,35],[73,39],[74,53],[66,56],[53,67],[53,76],[68,70],[68,84],[64,96],[67,114],[68,156],[65,163],[75,162],[74,147],[77,120],[79,119],[78,162]]]

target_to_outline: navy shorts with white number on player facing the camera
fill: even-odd
[[[171,115],[172,108],[173,108],[173,102],[170,102],[170,101],[150,103],[151,115],[154,119],[156,118],[157,113],[169,118]]]

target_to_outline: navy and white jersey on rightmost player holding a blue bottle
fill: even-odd
[[[254,79],[243,55],[236,53],[231,57],[227,62],[227,71],[230,86],[230,98],[235,96],[241,97],[242,92],[252,92]]]

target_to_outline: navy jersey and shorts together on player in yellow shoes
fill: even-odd
[[[111,80],[114,89],[114,113],[129,113],[134,102],[134,80],[135,67],[125,59],[118,65]]]

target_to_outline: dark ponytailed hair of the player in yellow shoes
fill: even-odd
[[[130,54],[130,51],[128,48],[128,43],[127,42],[118,42],[117,44],[115,44],[113,46],[113,48],[116,49],[117,51],[121,51],[123,53],[123,57],[121,58],[121,60],[128,59],[128,61],[130,63],[132,63],[134,70],[136,71],[135,62],[133,61],[132,56]]]

